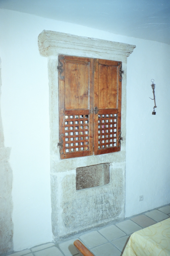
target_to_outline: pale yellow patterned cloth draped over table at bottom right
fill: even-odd
[[[170,256],[170,218],[134,232],[122,256]]]

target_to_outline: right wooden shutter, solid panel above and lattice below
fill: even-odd
[[[95,59],[94,154],[120,151],[122,73],[121,62]]]

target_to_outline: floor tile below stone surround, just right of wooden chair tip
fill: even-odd
[[[80,236],[80,239],[85,243],[89,248],[94,246],[104,244],[107,240],[99,234],[97,231],[92,231],[88,234]]]

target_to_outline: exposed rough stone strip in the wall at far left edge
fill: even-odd
[[[0,59],[0,95],[1,95]],[[12,170],[8,162],[11,148],[4,147],[4,135],[0,110],[0,255],[13,251],[12,222]]]

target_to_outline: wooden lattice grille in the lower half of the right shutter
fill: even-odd
[[[98,149],[117,147],[117,114],[98,115]]]

